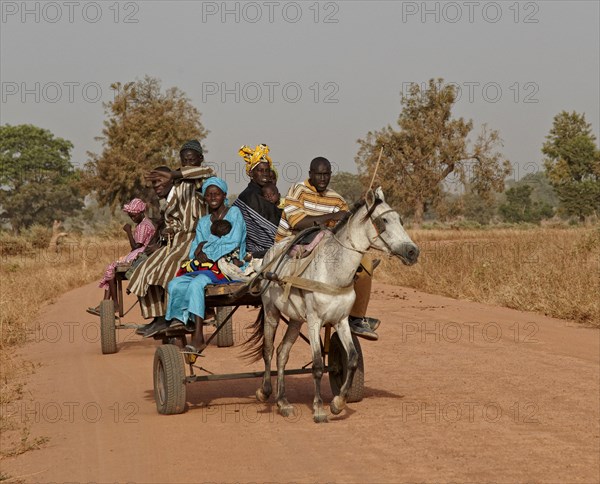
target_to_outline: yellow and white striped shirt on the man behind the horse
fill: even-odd
[[[340,210],[348,210],[348,204],[339,193],[330,188],[319,193],[308,180],[296,183],[285,197],[275,242],[298,232],[295,227],[304,217],[316,217]],[[333,227],[335,224],[336,222],[329,221],[327,226]]]

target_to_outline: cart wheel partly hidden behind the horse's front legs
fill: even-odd
[[[352,379],[352,385],[348,391],[348,402],[360,402],[363,399],[365,393],[365,366],[362,357],[362,350],[360,349],[360,342],[358,338],[352,335],[352,342],[358,352],[358,366],[354,372],[354,378]],[[342,346],[340,337],[337,333],[333,333],[331,341],[329,343],[329,356],[327,357],[327,364],[329,366],[329,385],[331,386],[331,392],[333,395],[339,395],[340,389],[344,384],[346,373],[348,372],[348,362],[346,361],[346,350]]]

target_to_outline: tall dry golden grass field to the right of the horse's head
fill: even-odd
[[[384,282],[600,325],[600,228],[415,230],[417,265],[386,259]]]

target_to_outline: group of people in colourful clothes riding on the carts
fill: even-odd
[[[128,292],[138,297],[142,316],[150,320],[136,332],[149,338],[185,330],[193,333],[192,350],[199,350],[205,345],[207,285],[249,280],[275,242],[308,227],[332,228],[349,208],[329,188],[331,164],[323,157],[314,158],[308,179],[292,185],[281,199],[269,147],[242,146],[239,155],[250,181],[230,205],[225,180],[202,166],[198,141],[186,142],[179,155],[180,168],[160,166],[146,177],[161,200],[158,221],[146,216],[146,203],[139,198],[124,205],[137,224],[135,229],[124,226],[131,252],[107,267],[100,287],[105,299],[116,299],[115,268],[131,263]],[[379,320],[366,316],[372,274],[373,261],[365,254],[355,277],[349,322],[354,334],[376,340]]]

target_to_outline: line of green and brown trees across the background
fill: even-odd
[[[163,90],[148,76],[111,87],[115,95],[104,105],[96,138],[102,150],[88,152],[82,168],[71,162],[70,141],[32,125],[0,126],[0,219],[14,232],[81,212],[86,196],[113,212],[134,197],[156,202],[144,173],[177,166],[177,147],[206,138],[200,112],[180,89]],[[558,113],[541,147],[544,169],[515,182],[507,181],[512,167],[500,133],[486,125],[474,133],[473,120],[453,115],[454,86],[431,79],[413,85],[400,101],[395,127],[358,140],[357,173],[334,175],[332,187],[348,200],[365,191],[379,160],[375,183],[415,226],[457,218],[535,223],[598,217],[600,151],[585,114]]]

